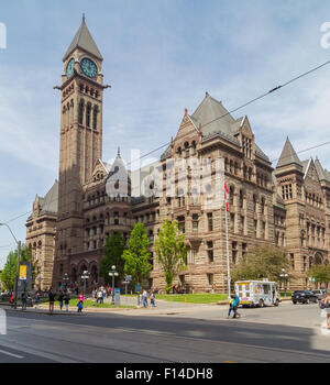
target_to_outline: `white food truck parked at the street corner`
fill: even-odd
[[[235,292],[242,306],[262,308],[278,306],[280,301],[277,283],[267,279],[235,282]]]

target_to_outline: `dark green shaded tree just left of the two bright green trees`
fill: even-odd
[[[105,256],[100,262],[100,276],[105,279],[106,284],[111,283],[109,272],[111,266],[116,266],[116,271],[119,273],[118,279],[123,277],[124,261],[121,255],[125,249],[125,240],[120,231],[112,231],[106,240],[103,246]]]

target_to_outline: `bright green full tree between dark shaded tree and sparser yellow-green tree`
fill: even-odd
[[[153,266],[148,262],[151,257],[150,240],[143,223],[135,223],[129,240],[129,248],[122,254],[124,260],[124,273],[132,275],[132,284],[142,284],[147,279]]]

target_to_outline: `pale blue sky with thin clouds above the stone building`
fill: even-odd
[[[321,25],[330,4],[299,1],[18,0],[2,2],[0,50],[0,221],[32,209],[58,174],[62,58],[86,13],[100,50],[106,91],[103,160],[121,147],[147,153],[176,134],[208,91],[229,110],[330,58]],[[276,160],[330,140],[330,66],[234,114]],[[330,169],[329,146],[318,156]],[[161,152],[160,152],[161,153]],[[155,155],[160,155],[160,153]],[[28,216],[9,222],[25,239]],[[0,228],[0,267],[13,248]]]

